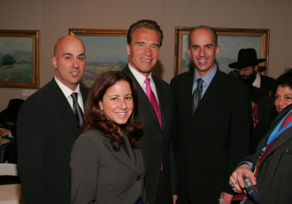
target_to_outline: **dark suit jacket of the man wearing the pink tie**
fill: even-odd
[[[162,79],[152,78],[158,93],[158,102],[161,112],[162,130],[158,117],[147,95],[142,90],[138,81],[128,67],[122,71],[134,80],[138,92],[139,107],[135,119],[143,121],[141,151],[145,163],[145,189],[146,199],[149,203],[155,203],[158,193],[160,166],[163,162],[165,203],[173,202],[173,194],[176,194],[175,158],[173,155],[173,92],[171,87]],[[173,189],[172,189],[173,186]]]

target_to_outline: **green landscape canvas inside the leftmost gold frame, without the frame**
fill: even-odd
[[[0,80],[33,80],[31,37],[0,37]]]

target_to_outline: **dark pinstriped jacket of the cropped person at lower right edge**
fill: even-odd
[[[261,140],[257,146],[255,155],[250,155],[242,161],[257,162],[261,148],[265,147],[267,140],[275,127],[280,123],[281,119],[286,116],[292,105],[289,105],[284,110],[280,111],[275,117],[273,124],[265,138]],[[286,150],[288,154],[286,155]],[[254,170],[254,166],[251,169]],[[289,204],[292,200],[292,128],[289,128],[279,140],[273,145],[269,153],[262,162],[260,169],[257,172],[257,191],[260,194],[262,201],[260,203],[273,204]],[[246,200],[244,204],[253,203]]]

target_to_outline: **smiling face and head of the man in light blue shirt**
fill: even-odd
[[[204,77],[214,69],[220,46],[215,46],[214,34],[207,28],[194,30],[189,41],[188,56],[192,58],[199,76]]]

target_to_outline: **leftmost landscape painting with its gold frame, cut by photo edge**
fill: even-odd
[[[0,87],[40,87],[40,31],[0,30]]]

